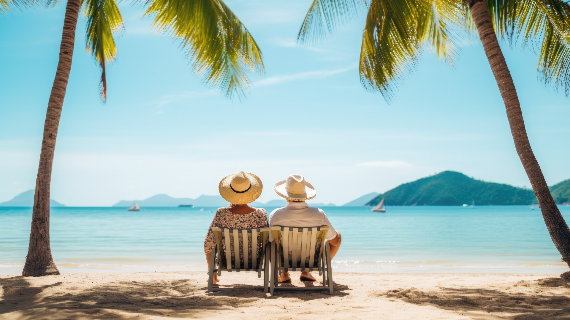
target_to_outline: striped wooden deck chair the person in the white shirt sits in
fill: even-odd
[[[311,228],[271,227],[271,280],[270,294],[274,290],[329,290],[333,293],[331,249],[325,240],[328,225]],[[282,271],[319,270],[323,285],[315,287],[279,286]]]

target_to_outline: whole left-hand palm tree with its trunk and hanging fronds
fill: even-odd
[[[0,0],[9,1],[9,0]],[[51,0],[48,0],[51,2]],[[50,3],[48,3],[50,4]],[[205,82],[245,95],[249,86],[247,69],[263,71],[262,54],[249,31],[220,0],[148,1],[146,12],[156,15],[160,31],[182,40],[194,60],[194,71]],[[115,0],[68,0],[63,24],[58,68],[48,101],[42,150],[36,178],[30,245],[22,276],[59,274],[50,248],[50,182],[55,141],[66,94],[74,51],[75,29],[80,7],[87,16],[87,48],[101,67],[101,99],[106,100],[105,62],[115,59],[113,34],[123,27]]]

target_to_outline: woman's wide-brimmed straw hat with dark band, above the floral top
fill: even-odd
[[[257,175],[238,171],[219,182],[219,194],[234,204],[252,203],[261,195],[263,184]]]

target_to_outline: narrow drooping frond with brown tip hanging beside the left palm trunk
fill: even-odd
[[[113,34],[123,29],[123,18],[115,0],[85,0],[87,51],[101,66],[101,100],[107,100],[105,62],[115,60],[117,47]]]

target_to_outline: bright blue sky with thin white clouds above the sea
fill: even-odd
[[[51,198],[68,206],[158,193],[196,198],[217,194],[219,180],[238,170],[263,180],[262,202],[278,198],[273,184],[292,173],[314,184],[315,202],[335,204],[443,170],[530,186],[480,44],[465,43],[455,68],[425,52],[388,104],[359,81],[364,13],[302,47],[295,37],[309,1],[227,4],[266,66],[242,102],[203,85],[178,42],[121,2],[125,31],[101,104],[100,70],[86,54],[80,18]],[[0,18],[0,202],[34,188],[63,16],[60,3]],[[540,83],[535,52],[508,45],[503,52],[548,184],[570,178],[568,99]]]

